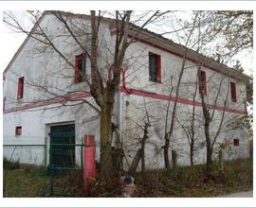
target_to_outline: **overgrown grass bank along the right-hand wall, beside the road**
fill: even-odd
[[[224,171],[214,165],[210,179],[204,176],[204,165],[180,167],[176,177],[172,170],[137,175],[137,197],[216,197],[252,190],[252,164],[250,160],[226,162]]]

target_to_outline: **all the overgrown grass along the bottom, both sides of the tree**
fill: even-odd
[[[78,171],[55,177],[54,195],[50,196],[50,177],[44,167],[5,165],[4,197],[82,197],[82,173]],[[226,162],[224,171],[214,165],[212,177],[204,177],[204,165],[179,167],[175,177],[172,170],[147,171],[135,175],[136,197],[214,197],[252,189],[252,161]],[[110,190],[110,191],[108,191]],[[119,197],[117,176],[110,189],[96,180],[91,197]]]

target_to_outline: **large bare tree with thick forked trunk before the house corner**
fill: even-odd
[[[31,31],[27,30],[22,24],[20,24],[20,21],[17,20],[15,16],[9,12],[5,12],[4,22],[16,31],[25,32],[30,38],[37,41],[38,44],[44,46],[44,49],[41,49],[43,53],[46,52],[47,49],[50,49],[55,54],[57,54],[61,60],[64,61],[70,68],[76,67],[72,61],[70,61],[68,55],[65,54],[65,51],[62,50],[61,47],[59,47],[55,42],[56,38],[58,37],[68,36],[72,39],[72,43],[74,43],[77,48],[80,48],[82,54],[85,54],[86,58],[88,58],[91,62],[90,77],[82,74],[82,78],[84,79],[88,90],[93,96],[94,101],[97,103],[98,107],[86,100],[82,100],[82,103],[89,105],[100,115],[101,176],[105,179],[111,176],[112,170],[111,124],[113,109],[115,105],[115,96],[119,90],[120,74],[125,52],[131,43],[136,42],[136,37],[145,26],[154,23],[158,18],[167,12],[168,11],[148,12],[144,19],[137,17],[140,22],[142,20],[144,20],[144,22],[142,24],[140,23],[140,26],[133,25],[133,30],[136,32],[130,37],[129,34],[133,11],[117,10],[109,15],[114,17],[112,20],[108,21],[112,21],[115,28],[115,45],[113,53],[111,52],[113,56],[110,60],[108,60],[108,66],[105,69],[102,69],[100,66],[100,60],[102,59],[100,48],[100,32],[101,22],[104,19],[104,15],[106,14],[105,11],[99,11],[97,14],[96,11],[92,10],[90,11],[90,15],[80,15],[80,17],[89,20],[89,25],[76,24],[76,20],[73,18],[72,14],[65,12],[47,11],[43,13],[43,15],[40,15],[39,12],[29,11],[29,14],[34,19],[35,23],[35,26]],[[64,27],[63,30],[59,31],[59,34],[55,34],[53,36],[46,27],[41,26],[40,21],[46,13],[53,15],[55,20],[57,20],[58,23]],[[90,40],[90,43],[84,42],[84,38]],[[107,76],[105,76],[106,74]],[[68,101],[73,101],[72,98],[68,96],[70,95],[70,92],[67,92],[64,95],[60,95],[51,92],[50,87],[48,86],[39,86],[38,84],[33,83],[30,84],[55,97],[62,96],[65,97]],[[87,87],[84,88],[85,92]]]

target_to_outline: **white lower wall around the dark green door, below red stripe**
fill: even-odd
[[[68,104],[68,103],[67,103]],[[53,108],[56,107],[56,108]],[[46,161],[49,160],[48,135],[51,125],[75,124],[76,143],[82,144],[84,134],[95,136],[97,160],[100,159],[100,129],[99,119],[91,120],[97,114],[81,106],[63,107],[59,104],[44,108],[29,109],[24,112],[4,114],[4,144],[5,145],[44,145],[46,141]],[[15,136],[15,127],[22,126],[22,135]],[[13,155],[12,155],[13,154]],[[12,155],[12,156],[11,156]],[[45,152],[42,147],[4,147],[4,157],[25,164],[44,165]],[[81,162],[81,147],[76,147],[76,164]]]

